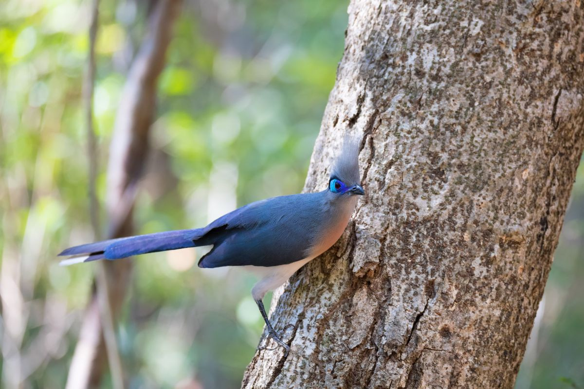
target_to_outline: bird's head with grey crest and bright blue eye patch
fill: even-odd
[[[365,194],[359,178],[359,142],[357,139],[345,139],[343,147],[338,150],[329,177],[328,190],[333,194],[343,196]]]

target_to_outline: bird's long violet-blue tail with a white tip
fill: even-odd
[[[59,264],[67,266],[104,259],[118,260],[132,255],[154,253],[155,251],[195,247],[198,246],[196,240],[202,234],[202,229],[176,230],[82,244],[62,251],[59,255],[71,256],[71,258],[62,260]]]

